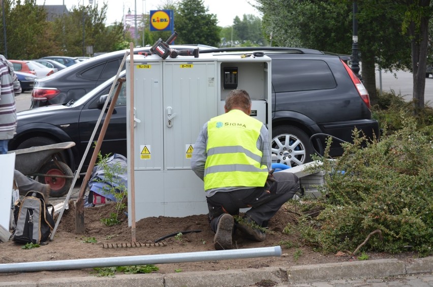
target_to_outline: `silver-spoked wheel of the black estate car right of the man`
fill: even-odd
[[[313,147],[310,137],[293,125],[279,125],[272,129],[272,154],[277,156],[276,163],[289,167],[311,162]]]

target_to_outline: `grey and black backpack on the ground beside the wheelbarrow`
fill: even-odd
[[[18,243],[45,243],[54,228],[52,212],[48,211],[44,195],[40,192],[28,192],[22,201],[14,206],[15,231],[12,241]]]

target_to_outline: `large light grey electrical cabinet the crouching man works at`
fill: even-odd
[[[128,158],[134,156],[134,168],[128,168],[128,188],[134,184],[137,221],[208,212],[203,181],[191,170],[194,143],[203,125],[224,113],[225,98],[233,88],[250,93],[251,116],[271,129],[270,65],[266,56],[219,54],[164,60],[157,55],[134,55],[134,62],[127,59],[127,111],[134,113],[134,126],[127,120]],[[229,83],[224,81],[227,68],[236,74]],[[131,173],[135,182],[130,180]],[[128,203],[130,214],[130,193]]]

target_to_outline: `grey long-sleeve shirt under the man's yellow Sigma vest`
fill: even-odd
[[[207,122],[203,125],[202,130],[197,138],[196,143],[194,144],[193,156],[191,158],[191,168],[197,174],[198,177],[203,180],[204,178],[204,166],[206,164],[206,146],[207,146]],[[269,144],[269,133],[266,129],[265,125],[262,125],[260,130],[259,138],[257,139],[257,148],[262,152],[262,161],[261,164],[271,169],[271,150]],[[230,192],[232,190],[237,189],[246,189],[251,187],[245,186],[230,186],[230,187],[221,187],[221,188],[212,188],[206,190],[206,196],[211,197],[216,192]]]

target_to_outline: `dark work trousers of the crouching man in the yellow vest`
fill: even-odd
[[[299,190],[298,177],[293,173],[276,172],[273,176],[275,182],[268,188],[270,190],[266,190],[265,187],[253,187],[232,192],[217,192],[206,198],[212,231],[217,230],[221,215],[238,215],[240,208],[248,207],[251,209],[246,211],[245,215],[256,221],[259,226],[267,227],[268,220]]]

